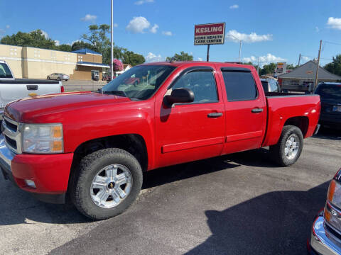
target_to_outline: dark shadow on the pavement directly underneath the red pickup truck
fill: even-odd
[[[143,189],[161,186],[182,179],[189,179],[239,167],[240,165],[259,167],[278,167],[269,161],[266,149],[251,152],[240,152],[223,157],[200,160],[163,169],[148,171],[144,174]],[[1,196],[0,225],[44,222],[51,224],[77,224],[92,222],[78,212],[72,205],[53,205],[42,203],[30,194],[13,187],[9,181],[0,178]],[[4,196],[6,194],[6,196]]]

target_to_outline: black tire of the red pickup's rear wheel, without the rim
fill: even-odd
[[[293,136],[298,141],[298,151],[295,157],[289,159],[286,156],[286,142],[289,137]],[[274,159],[274,162],[281,166],[291,166],[300,157],[303,149],[303,135],[301,129],[293,125],[284,126],[281,137],[278,140],[277,145],[270,146],[270,155]]]

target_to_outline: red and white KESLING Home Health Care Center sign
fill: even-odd
[[[225,23],[195,25],[194,45],[224,44]]]

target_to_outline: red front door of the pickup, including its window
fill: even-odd
[[[220,155],[224,144],[224,103],[211,67],[181,72],[168,90],[156,98],[157,167]],[[193,103],[165,106],[163,97],[172,89],[194,92]]]

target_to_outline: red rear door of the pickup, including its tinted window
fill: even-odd
[[[224,154],[261,147],[266,130],[266,101],[261,81],[250,69],[222,67],[226,142]],[[259,89],[260,88],[260,89]]]

